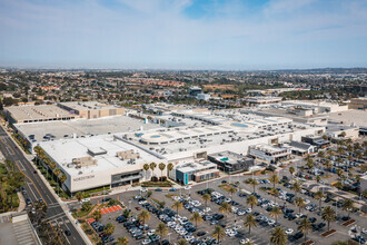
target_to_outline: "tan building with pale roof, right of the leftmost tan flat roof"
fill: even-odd
[[[59,102],[58,106],[68,110],[73,115],[78,115],[81,118],[88,118],[88,119],[125,115],[125,108],[122,107],[101,104],[97,101]]]

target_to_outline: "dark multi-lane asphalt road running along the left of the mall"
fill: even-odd
[[[23,156],[21,149],[19,149],[1,126],[0,150],[4,158],[12,160],[18,169],[24,174],[24,188],[27,190],[27,196],[31,198],[32,203],[42,198],[47,204],[46,220],[51,223],[52,226],[60,226],[62,231],[69,229],[71,235],[66,236],[66,238],[71,245],[86,244],[58,200],[52,195],[51,190],[37,174],[38,171],[34,171],[32,164]]]

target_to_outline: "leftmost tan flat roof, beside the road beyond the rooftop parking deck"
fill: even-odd
[[[75,115],[54,105],[13,106],[6,107],[6,110],[8,110],[17,121],[75,117]]]

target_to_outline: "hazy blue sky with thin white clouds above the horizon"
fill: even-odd
[[[0,0],[0,66],[367,67],[367,0]]]

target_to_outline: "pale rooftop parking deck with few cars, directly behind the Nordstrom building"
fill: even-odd
[[[142,120],[138,120],[127,116],[110,116],[97,119],[73,119],[63,121],[42,121],[42,122],[28,122],[16,124],[18,130],[26,137],[34,135],[36,141],[47,140],[43,137],[47,134],[52,134],[56,139],[72,138],[73,134],[77,137],[88,137],[90,135],[105,135],[126,131],[136,131],[142,128],[143,130],[160,128],[156,124],[143,124]]]

